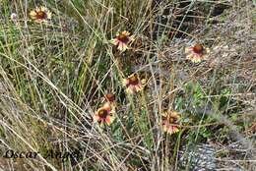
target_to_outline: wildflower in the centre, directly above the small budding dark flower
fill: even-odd
[[[137,74],[132,74],[127,79],[124,79],[123,85],[126,86],[128,93],[139,92],[143,89],[143,84]]]

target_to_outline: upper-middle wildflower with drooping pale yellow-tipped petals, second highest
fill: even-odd
[[[116,34],[116,37],[111,39],[110,42],[117,46],[117,49],[121,52],[124,52],[126,49],[128,49],[128,43],[133,41],[133,36],[129,36],[130,32],[127,30],[123,30],[120,33]]]

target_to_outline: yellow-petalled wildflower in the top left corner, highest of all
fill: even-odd
[[[36,7],[31,11],[30,16],[36,23],[46,23],[51,19],[51,12],[46,7]]]

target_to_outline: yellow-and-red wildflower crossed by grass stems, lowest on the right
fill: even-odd
[[[180,119],[180,116],[175,111],[165,112],[162,114],[162,131],[166,132],[169,135],[179,132],[179,127],[177,122]]]

